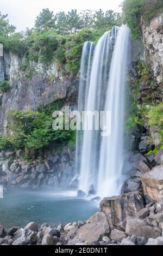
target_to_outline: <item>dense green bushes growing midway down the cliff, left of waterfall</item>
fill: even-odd
[[[52,113],[60,110],[64,101],[58,100],[38,111],[10,110],[8,112],[7,135],[0,135],[0,149],[24,151],[25,158],[35,158],[40,150],[45,150],[52,143],[74,145],[76,131],[53,130]]]

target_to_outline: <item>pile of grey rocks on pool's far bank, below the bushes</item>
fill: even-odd
[[[74,150],[49,155],[44,162],[26,164],[21,152],[1,152],[0,185],[21,188],[67,188],[74,177]],[[77,182],[76,182],[77,183]],[[70,186],[74,186],[75,182]]]

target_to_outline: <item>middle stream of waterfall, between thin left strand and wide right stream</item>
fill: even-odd
[[[110,32],[106,32],[97,43],[93,56],[89,90],[85,104],[86,111],[99,111],[104,109],[105,91],[108,85],[109,67],[117,31],[118,27],[115,27]],[[86,120],[84,124],[86,126]],[[86,193],[89,192],[91,184],[95,186],[97,183],[98,154],[99,131],[95,129],[85,129],[83,133],[82,153],[79,159],[79,189]]]

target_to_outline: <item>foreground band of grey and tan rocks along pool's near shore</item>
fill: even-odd
[[[163,201],[146,205],[120,223],[112,218],[112,224],[103,212],[97,212],[87,222],[57,228],[47,223],[38,227],[35,222],[8,230],[0,225],[0,245],[163,245]]]

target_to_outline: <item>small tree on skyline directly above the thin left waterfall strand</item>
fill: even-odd
[[[91,10],[83,10],[80,13],[80,20],[82,22],[82,28],[91,27],[94,22],[93,13]]]

